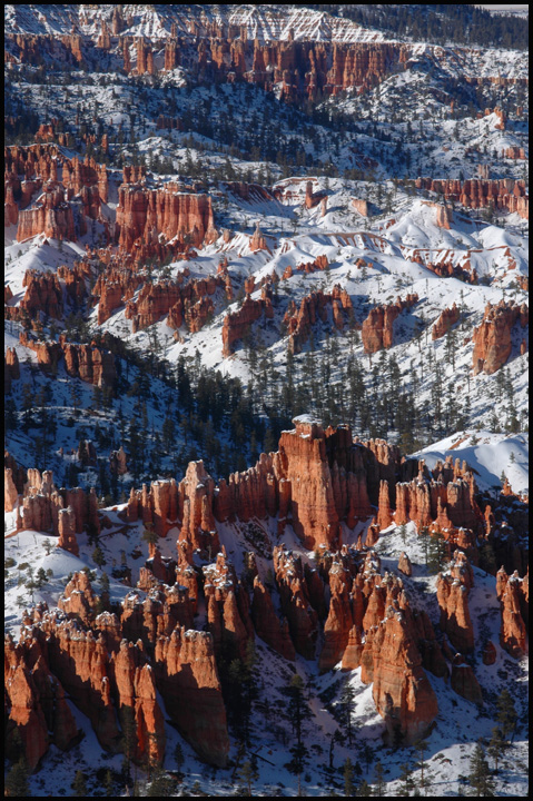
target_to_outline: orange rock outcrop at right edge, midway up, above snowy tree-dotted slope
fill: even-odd
[[[481,372],[492,375],[506,363],[512,350],[512,330],[519,320],[522,327],[527,325],[529,309],[525,304],[519,307],[513,301],[507,304],[501,300],[497,306],[486,305],[483,322],[474,328],[472,337],[474,375]]]

